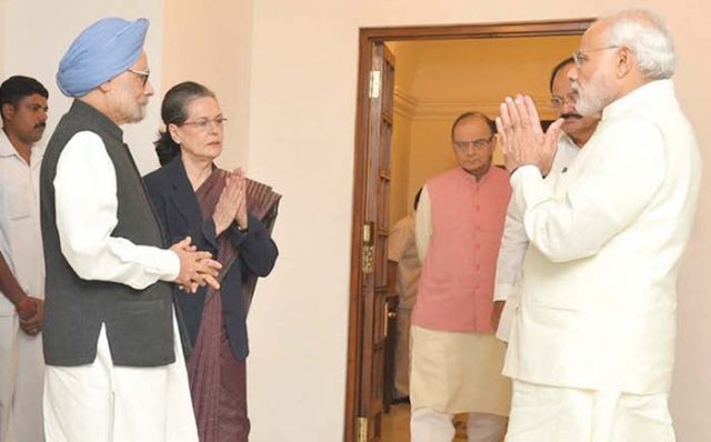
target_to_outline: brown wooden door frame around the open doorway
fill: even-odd
[[[356,112],[356,144],[353,162],[353,215],[351,232],[351,279],[349,300],[348,373],[346,382],[346,423],[343,440],[356,442],[358,392],[362,366],[363,312],[360,289],[362,227],[365,211],[365,173],[368,171],[368,89],[372,48],[385,41],[463,40],[512,37],[580,36],[593,19],[571,19],[482,24],[423,26],[394,28],[361,28],[358,57],[358,103]]]

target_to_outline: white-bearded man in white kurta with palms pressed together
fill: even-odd
[[[648,11],[601,19],[569,77],[598,130],[551,188],[561,121],[543,134],[530,97],[507,99],[513,199],[531,241],[504,374],[508,442],[671,442],[677,275],[700,157],[670,78],[671,37]]]

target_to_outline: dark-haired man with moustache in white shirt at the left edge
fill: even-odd
[[[47,89],[16,76],[0,86],[0,442],[41,442],[44,255],[39,174]]]

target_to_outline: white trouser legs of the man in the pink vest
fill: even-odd
[[[452,442],[454,439],[453,414],[420,408],[410,419],[411,442]],[[507,428],[507,418],[489,413],[469,413],[467,439],[469,442],[501,442]]]

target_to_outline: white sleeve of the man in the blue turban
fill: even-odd
[[[178,277],[174,252],[111,235],[118,224],[116,169],[96,133],[79,132],[64,147],[57,164],[54,207],[62,254],[81,279],[141,290]]]

